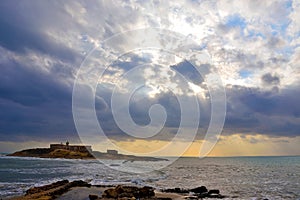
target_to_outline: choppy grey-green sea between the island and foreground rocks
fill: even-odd
[[[300,199],[299,156],[184,157],[168,166],[164,162],[1,156],[0,199],[63,179],[96,185],[148,185],[158,189],[204,185],[219,189],[226,199]]]

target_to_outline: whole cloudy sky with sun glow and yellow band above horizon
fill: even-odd
[[[299,19],[297,0],[3,0],[0,152],[300,155]]]

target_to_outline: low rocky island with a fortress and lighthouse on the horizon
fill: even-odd
[[[164,158],[147,156],[134,156],[118,153],[117,150],[108,149],[106,153],[93,151],[89,145],[50,144],[50,148],[35,148],[17,151],[7,156],[37,157],[37,158],[65,158],[65,159],[106,159],[127,161],[167,161]]]

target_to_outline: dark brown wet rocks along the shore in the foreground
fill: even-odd
[[[99,200],[99,199],[148,199],[148,200],[176,200],[176,199],[222,199],[224,195],[217,189],[208,190],[205,186],[192,189],[170,188],[157,190],[153,187],[133,185],[91,185],[84,181],[58,181],[49,185],[33,187],[24,196],[10,200]]]

